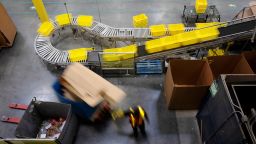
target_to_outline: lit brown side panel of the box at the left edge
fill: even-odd
[[[4,6],[0,3],[0,31],[4,34],[5,38],[8,40],[8,43],[12,45],[15,35],[16,35],[16,26],[14,25],[12,19],[9,17]]]

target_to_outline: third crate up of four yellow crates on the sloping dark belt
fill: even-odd
[[[199,42],[197,33],[195,31],[180,33],[177,34],[177,37],[182,46],[187,46]]]

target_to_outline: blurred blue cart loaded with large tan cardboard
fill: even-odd
[[[98,121],[120,103],[126,94],[80,63],[69,65],[54,84],[60,101],[71,104],[83,119]]]

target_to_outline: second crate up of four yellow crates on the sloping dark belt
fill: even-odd
[[[174,49],[181,46],[181,43],[177,37],[177,35],[174,36],[167,36],[161,38],[162,43],[164,43],[164,50]]]

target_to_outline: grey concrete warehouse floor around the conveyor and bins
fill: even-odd
[[[215,4],[221,21],[231,20],[249,0],[208,0]],[[10,110],[11,102],[28,104],[33,97],[44,101],[57,101],[51,88],[57,75],[41,63],[35,55],[33,42],[39,20],[31,0],[0,0],[17,26],[17,36],[12,48],[0,50],[0,116],[22,116],[23,112]],[[131,27],[132,16],[146,13],[149,23],[168,24],[181,22],[183,5],[194,0],[66,0],[73,15],[93,15],[100,21],[115,27]],[[49,16],[65,12],[62,0],[44,0]],[[1,22],[1,18],[0,18]],[[64,40],[62,46],[75,47],[76,42]],[[77,43],[76,43],[77,44]],[[132,129],[128,119],[116,123],[108,121],[93,126],[81,124],[76,144],[118,143],[172,143],[199,144],[200,136],[196,123],[196,111],[168,111],[163,96],[163,75],[108,78],[127,93],[121,107],[142,105],[149,114],[146,126],[147,138],[135,140],[129,135]],[[16,125],[0,122],[0,137],[14,137]]]

